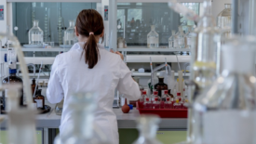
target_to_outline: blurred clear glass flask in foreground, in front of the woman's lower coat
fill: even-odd
[[[61,130],[58,137],[55,138],[55,144],[109,144],[107,137],[96,132],[94,121],[94,111],[96,105],[94,98],[96,93],[75,93],[68,103],[68,108],[72,110],[72,119]],[[99,137],[99,138],[98,138]]]

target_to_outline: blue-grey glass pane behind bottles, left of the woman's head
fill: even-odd
[[[12,3],[13,26],[19,31],[21,46],[29,43],[29,30],[33,27],[33,20],[39,20],[38,27],[44,32],[45,42],[63,45],[64,31],[69,27],[69,20],[76,20],[83,9],[96,9],[97,3]]]

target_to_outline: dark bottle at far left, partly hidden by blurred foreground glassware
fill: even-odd
[[[4,84],[21,84],[23,85],[22,79],[20,77],[16,76],[16,69],[9,69],[9,76],[3,79],[2,83]],[[3,109],[4,111],[8,110],[7,106],[7,89],[2,91],[2,98],[3,98]],[[24,105],[23,102],[23,89],[20,89],[20,106]]]

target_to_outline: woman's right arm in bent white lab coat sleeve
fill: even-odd
[[[121,59],[119,67],[120,80],[116,87],[117,90],[121,94],[125,94],[129,100],[138,100],[141,97],[139,85],[132,79],[128,66]]]

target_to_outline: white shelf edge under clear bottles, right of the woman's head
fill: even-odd
[[[175,51],[190,51],[189,48],[168,48],[160,46],[159,48],[147,48],[145,46],[128,46],[128,48],[117,48],[117,51],[128,52],[175,52]]]

